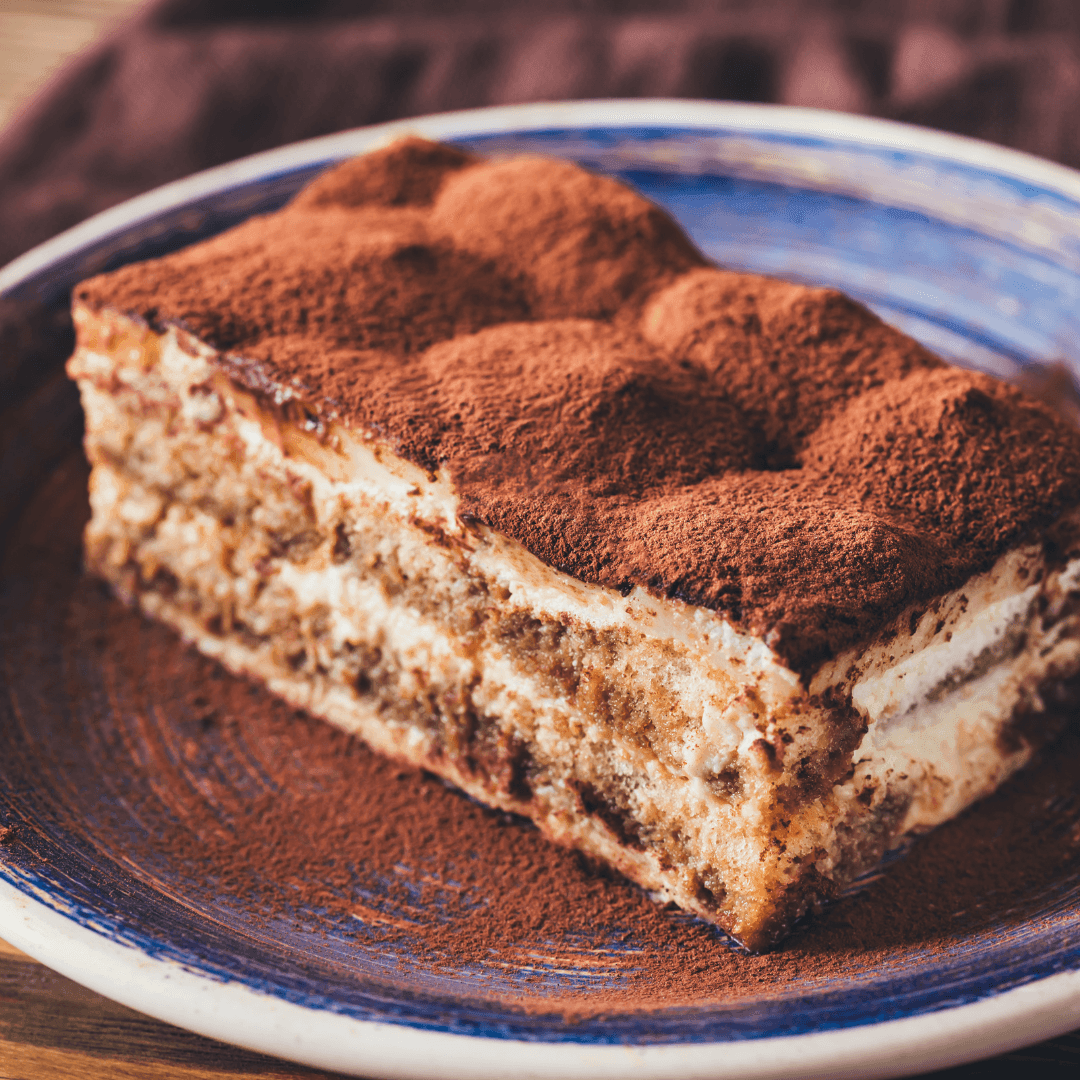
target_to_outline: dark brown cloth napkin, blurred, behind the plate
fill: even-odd
[[[0,133],[0,265],[140,191],[296,139],[647,96],[866,112],[1080,165],[1080,4],[158,0]]]

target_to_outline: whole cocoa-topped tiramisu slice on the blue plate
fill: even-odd
[[[1080,434],[572,165],[399,143],[75,315],[95,572],[751,948],[1080,670]]]

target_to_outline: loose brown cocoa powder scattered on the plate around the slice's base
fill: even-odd
[[[737,950],[716,928],[388,762],[125,608],[79,570],[85,483],[73,458],[9,549],[0,637],[32,724],[3,731],[5,768],[43,793],[66,835],[125,875],[165,880],[211,919],[225,895],[246,905],[251,934],[295,924],[348,945],[354,928],[356,949],[400,954],[406,967],[494,973],[489,995],[508,969],[524,970],[507,1008],[572,1020],[789,998],[1008,934],[1045,919],[1048,896],[1075,907],[1074,725],[777,951]],[[530,976],[541,960],[548,968]],[[604,977],[553,997],[550,968]]]

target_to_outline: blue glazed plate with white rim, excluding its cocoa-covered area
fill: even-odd
[[[98,215],[0,271],[0,305],[32,337],[31,361],[0,369],[18,402],[0,461],[0,935],[162,1020],[364,1075],[887,1077],[1080,1025],[1075,870],[946,949],[897,946],[888,963],[757,997],[567,1025],[559,995],[603,988],[613,969],[532,966],[528,994],[553,1007],[524,1011],[524,971],[449,975],[320,912],[256,920],[249,897],[154,847],[132,792],[154,782],[151,751],[179,761],[192,719],[154,702],[136,724],[117,664],[72,637],[84,497],[71,496],[79,414],[57,366],[71,286],[276,208],[327,164],[406,132],[618,176],[717,262],[837,286],[957,363],[1002,377],[1080,365],[1080,176],[833,113],[687,102],[451,113],[260,154]],[[256,748],[200,739],[186,783],[241,799],[258,786]]]

